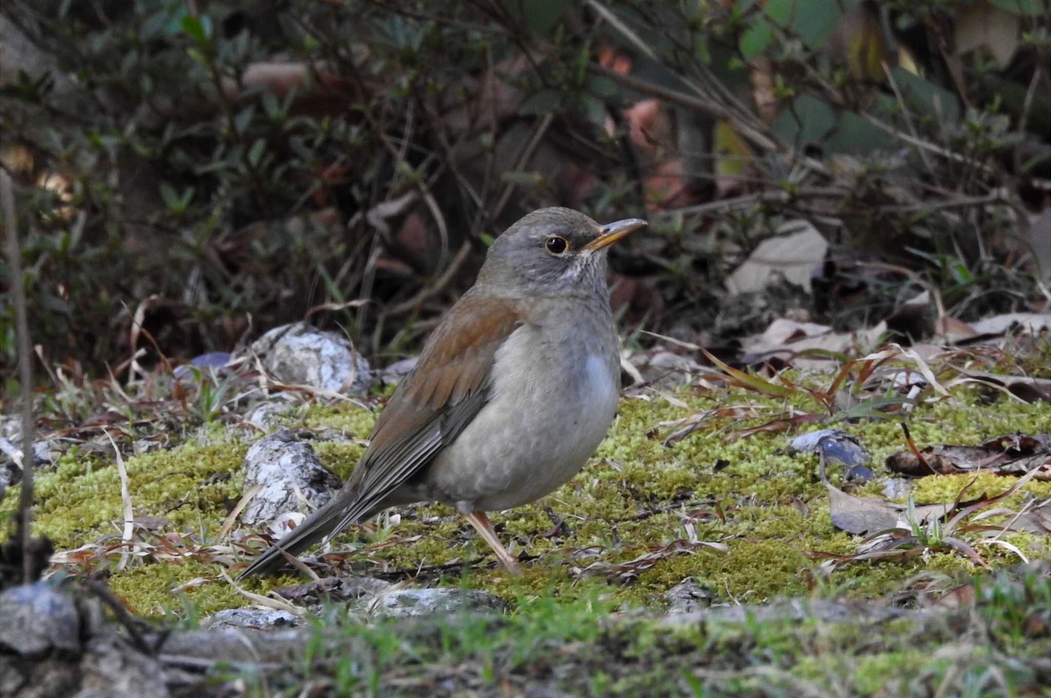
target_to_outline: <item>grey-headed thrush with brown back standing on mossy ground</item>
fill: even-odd
[[[554,207],[508,228],[391,395],[341,491],[238,578],[272,574],[286,554],[416,502],[455,508],[520,573],[486,512],[550,493],[605,437],[620,395],[607,253],[644,226]]]

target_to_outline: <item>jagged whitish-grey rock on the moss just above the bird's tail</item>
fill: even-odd
[[[304,499],[314,507],[323,506],[342,484],[322,466],[310,444],[290,429],[256,441],[245,453],[244,470],[246,492],[262,486],[242,514],[249,526],[269,523],[288,511],[303,511]]]

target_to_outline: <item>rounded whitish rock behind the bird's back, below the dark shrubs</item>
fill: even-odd
[[[306,322],[274,327],[251,345],[263,367],[280,381],[364,396],[372,384],[369,362],[350,340]]]

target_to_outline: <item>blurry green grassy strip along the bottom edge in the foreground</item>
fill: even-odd
[[[520,597],[503,617],[320,626],[284,671],[215,678],[248,696],[1047,695],[1051,585],[993,578],[976,596],[960,616],[830,621],[816,602],[802,618],[679,623],[615,617],[593,590]]]

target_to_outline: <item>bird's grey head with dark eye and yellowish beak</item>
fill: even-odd
[[[489,248],[478,281],[519,297],[605,293],[609,246],[645,225],[628,218],[602,226],[573,209],[533,211]]]

